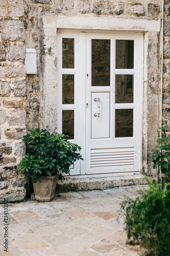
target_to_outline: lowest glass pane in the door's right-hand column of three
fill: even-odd
[[[133,109],[115,110],[115,137],[133,137]]]

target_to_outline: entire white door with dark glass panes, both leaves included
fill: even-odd
[[[80,144],[71,174],[140,170],[141,35],[59,35],[59,132]]]

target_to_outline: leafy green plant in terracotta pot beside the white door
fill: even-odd
[[[54,198],[57,178],[69,174],[69,166],[82,159],[81,147],[71,143],[64,134],[50,134],[33,127],[30,134],[23,136],[28,153],[18,164],[18,171],[31,177],[35,199],[51,201]]]

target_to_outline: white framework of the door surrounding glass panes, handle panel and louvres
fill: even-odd
[[[116,74],[136,74],[136,77],[139,81],[139,88],[138,91],[135,92],[134,89],[134,103],[128,103],[128,108],[135,108],[134,116],[136,115],[136,111],[138,113],[137,118],[137,125],[134,125],[134,139],[136,139],[136,135],[138,134],[139,138],[137,140],[137,143],[134,145],[135,150],[136,147],[138,148],[137,154],[135,154],[135,158],[137,159],[136,165],[131,168],[125,169],[125,166],[121,169],[120,166],[117,169],[108,169],[107,173],[114,173],[114,172],[135,172],[135,170],[140,170],[141,166],[141,108],[142,108],[142,55],[143,55],[143,37],[141,33],[95,33],[95,32],[61,32],[58,34],[58,56],[62,56],[61,50],[62,50],[62,37],[64,38],[75,38],[75,68],[74,69],[62,69],[62,57],[58,58],[58,132],[62,132],[62,110],[75,110],[75,139],[70,140],[71,142],[75,142],[82,147],[81,154],[84,158],[84,161],[78,161],[78,163],[75,164],[74,169],[70,170],[71,175],[85,175],[85,174],[96,174],[101,173],[103,174],[103,170],[101,169],[101,172],[98,170],[94,170],[90,172],[90,143],[93,143],[93,148],[102,148],[105,147],[105,142],[103,139],[99,139],[98,142],[91,140],[91,130],[90,130],[90,118],[89,115],[91,115],[91,99],[89,99],[89,93],[88,92],[99,92],[100,88],[90,88],[90,74],[91,74],[91,58],[90,56],[90,47],[86,49],[86,40],[87,44],[89,44],[91,38],[93,39],[102,39],[107,38],[111,39],[111,44],[115,44],[115,38],[116,39],[131,39],[135,40],[135,46],[134,46],[134,69],[133,70],[124,70],[119,69],[115,70],[115,61],[113,58],[111,58],[111,66],[112,68],[110,70],[114,70],[114,72],[111,73],[111,84],[113,84],[113,81],[115,80]],[[87,37],[87,38],[86,38]],[[89,44],[90,45],[90,44]],[[88,45],[88,46],[89,46]],[[115,47],[111,47],[111,51],[115,49]],[[136,56],[136,52],[139,54],[139,56]],[[138,55],[137,54],[137,55]],[[81,56],[81,58],[80,58]],[[115,56],[115,52],[111,52],[111,56]],[[139,57],[139,58],[138,58]],[[80,60],[81,59],[81,60]],[[87,62],[87,65],[86,65]],[[87,67],[86,67],[87,66]],[[75,104],[73,105],[63,105],[62,104],[62,74],[75,74]],[[88,77],[86,74],[89,74]],[[134,81],[135,82],[135,81]],[[81,86],[80,86],[81,84]],[[79,86],[78,86],[79,85]],[[106,87],[105,91],[111,93],[111,97],[113,97],[113,94],[111,92],[111,87]],[[138,95],[137,98],[139,99],[138,102],[136,101],[135,95]],[[86,98],[87,97],[87,98]],[[88,108],[86,108],[86,103],[88,103]],[[131,105],[129,105],[131,104]],[[137,109],[136,109],[136,104]],[[114,103],[114,100],[111,101],[111,115],[114,116],[114,108],[115,109],[124,109],[127,108],[127,103],[123,103],[118,105]],[[114,117],[112,118],[112,122],[114,122]],[[86,124],[85,124],[86,123]],[[114,126],[114,123],[113,123]],[[87,133],[86,133],[87,131]],[[107,147],[113,148],[115,146],[125,146],[125,138],[114,138],[113,130],[110,130],[110,138],[107,139]],[[113,139],[114,139],[114,146],[113,146]],[[101,145],[99,146],[99,141]],[[131,138],[126,138],[126,146],[128,142],[128,146],[132,146]],[[96,144],[96,145],[95,145]],[[91,146],[91,145],[90,145]],[[86,163],[86,166],[85,166]]]

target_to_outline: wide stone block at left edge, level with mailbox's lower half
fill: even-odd
[[[23,63],[3,63],[0,66],[0,77],[22,77],[26,75],[26,66]]]

